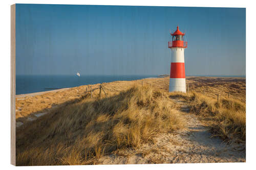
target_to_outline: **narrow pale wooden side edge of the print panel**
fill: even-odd
[[[11,5],[11,164],[16,165],[16,120],[15,120],[15,4]]]

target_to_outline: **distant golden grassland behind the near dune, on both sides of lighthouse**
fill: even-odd
[[[122,90],[130,89],[134,85],[152,84],[154,89],[168,91],[169,78],[154,78],[141,79],[135,81],[115,81],[103,83],[105,91],[108,95],[118,94]],[[189,89],[197,93],[205,93],[205,95],[215,98],[216,94],[221,94],[222,97],[227,96],[227,91],[230,91],[230,98],[245,102],[245,78],[217,78],[217,77],[187,77],[186,84],[189,84]],[[97,98],[99,94],[99,85],[93,85],[93,97]],[[45,94],[26,96],[16,98],[16,121],[25,123],[27,117],[38,112],[49,112],[56,105],[65,105],[74,100],[80,100],[86,94],[86,88],[90,92],[91,86],[83,85],[73,87],[67,90],[57,92],[47,92]],[[102,93],[102,96],[104,94]]]

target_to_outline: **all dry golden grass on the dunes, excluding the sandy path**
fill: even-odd
[[[141,81],[144,86],[152,84],[152,89],[131,89]],[[189,102],[190,110],[204,117],[214,135],[245,141],[245,78],[188,77],[186,83],[195,93],[170,95]],[[140,147],[158,132],[182,128],[168,85],[168,77],[104,83],[108,98],[101,100],[99,89],[89,99],[89,85],[19,98],[16,121],[26,124],[16,131],[17,165],[95,164],[102,155]],[[225,99],[226,91],[232,99]],[[216,93],[221,94],[219,104]],[[37,112],[49,114],[27,120]]]

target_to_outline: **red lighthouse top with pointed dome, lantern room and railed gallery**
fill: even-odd
[[[174,33],[171,33],[170,35],[173,36],[173,41],[168,42],[169,48],[172,48],[172,47],[186,48],[187,47],[187,41],[183,41],[183,36],[185,35],[185,33],[182,33],[179,30],[179,26],[177,26],[177,30]]]

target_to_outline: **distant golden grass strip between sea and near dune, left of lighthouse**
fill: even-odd
[[[167,79],[156,78],[156,79],[142,79],[135,81],[116,81],[110,83],[103,83],[105,92],[108,95],[118,94],[122,90],[130,89],[134,85],[141,85],[141,81],[144,85],[149,85],[150,83],[156,89],[162,89],[160,85],[164,85],[164,88],[168,86]],[[94,84],[93,88],[93,98],[97,98],[99,94],[99,85]],[[159,88],[160,87],[160,88]],[[16,98],[16,121],[25,123],[27,117],[34,113],[49,112],[53,106],[66,105],[74,100],[80,100],[82,96],[90,93],[91,86],[83,85],[78,87],[73,87],[67,90],[60,91],[49,91],[44,94],[35,96],[23,96]],[[104,93],[102,92],[102,96]]]

